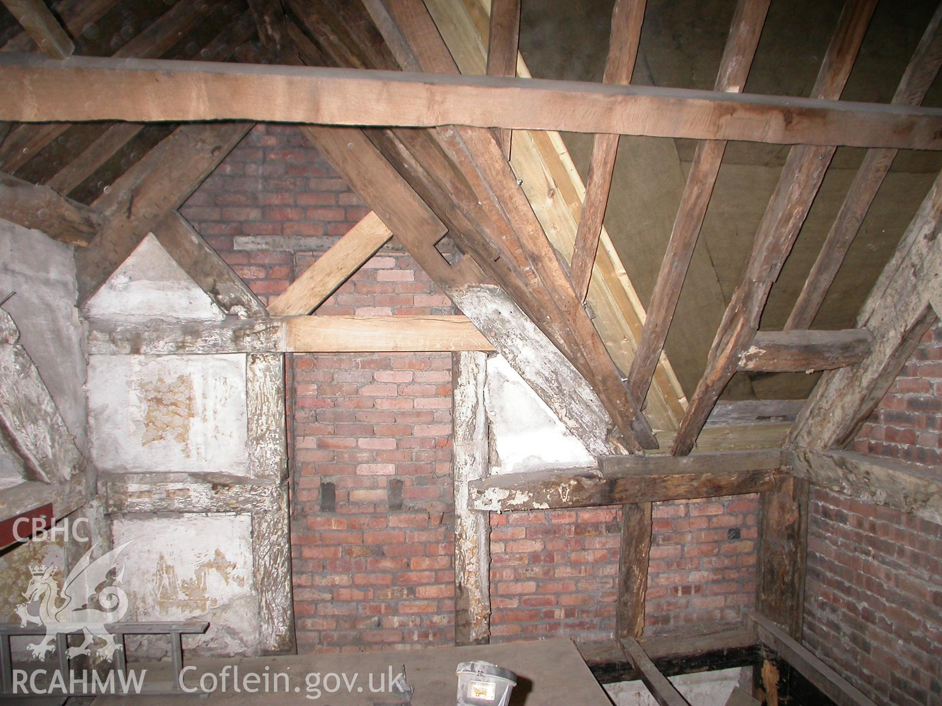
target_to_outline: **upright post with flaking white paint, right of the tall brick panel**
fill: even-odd
[[[468,506],[468,481],[487,474],[484,376],[487,356],[452,355],[454,380],[455,644],[491,639],[491,528],[486,512]]]

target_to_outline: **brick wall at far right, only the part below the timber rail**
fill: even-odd
[[[804,643],[878,704],[942,704],[942,525],[815,488]]]

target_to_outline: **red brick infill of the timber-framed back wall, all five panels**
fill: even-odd
[[[268,125],[181,212],[268,301],[366,209],[297,129]],[[317,310],[339,313],[455,311],[387,248]],[[451,357],[294,355],[286,368],[299,650],[451,644]],[[752,607],[756,508],[754,495],[656,505],[648,630]],[[615,507],[492,515],[495,640],[610,637],[620,521]]]

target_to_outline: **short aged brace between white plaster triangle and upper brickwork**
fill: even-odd
[[[154,236],[221,311],[240,318],[266,315],[258,297],[179,211],[171,211],[163,217],[154,226]]]

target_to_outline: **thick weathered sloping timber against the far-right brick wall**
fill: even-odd
[[[795,446],[826,450],[852,441],[933,325],[931,302],[942,295],[940,219],[942,174],[857,316],[873,336],[869,355],[821,377],[789,434]]]

